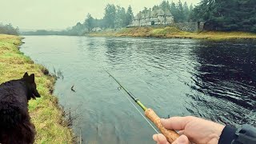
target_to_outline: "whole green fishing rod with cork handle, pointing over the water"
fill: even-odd
[[[108,71],[106,71],[106,73],[109,74],[110,77],[113,78],[114,81],[118,83],[120,88],[122,88],[122,90],[125,90],[126,94],[128,94],[130,96],[130,98],[132,98],[134,100],[134,102],[136,102],[138,104],[138,106],[140,106],[142,108],[142,110],[144,111],[144,113],[146,115],[146,118],[149,118],[150,121],[153,122],[154,125],[158,127],[158,129],[162,132],[162,134],[164,136],[166,136],[168,142],[172,143],[172,142],[174,142],[179,137],[179,135],[178,135],[178,133],[176,131],[174,131],[174,130],[167,130],[164,126],[162,126],[162,124],[160,122],[160,118],[154,112],[154,110],[144,106],[142,104],[142,102],[140,102],[139,99],[134,96],[134,94],[130,93],[129,90],[127,90],[124,86],[122,86],[122,84],[120,82],[118,82],[118,80],[116,78],[114,78],[114,76],[112,74],[110,74]]]

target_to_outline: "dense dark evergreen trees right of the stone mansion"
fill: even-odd
[[[256,32],[256,0],[202,0],[194,18],[206,22],[205,30]]]

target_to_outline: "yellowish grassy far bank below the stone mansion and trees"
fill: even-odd
[[[122,30],[104,30],[89,34],[90,36],[111,36],[111,37],[154,37],[154,38],[195,38],[195,39],[253,39],[256,34],[246,32],[218,32],[203,31],[190,33],[178,30],[174,27],[134,27]]]

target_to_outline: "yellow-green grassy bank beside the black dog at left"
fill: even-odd
[[[18,50],[20,44],[20,37],[0,34],[0,83],[22,78],[26,71],[35,74],[38,92],[42,96],[29,103],[30,117],[37,130],[35,143],[74,143],[72,131],[58,107],[58,98],[50,94],[54,89],[54,77],[46,74],[43,66],[34,64],[23,55]]]

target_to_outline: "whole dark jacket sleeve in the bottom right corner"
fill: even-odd
[[[256,128],[247,124],[239,129],[225,126],[218,144],[256,144]]]

